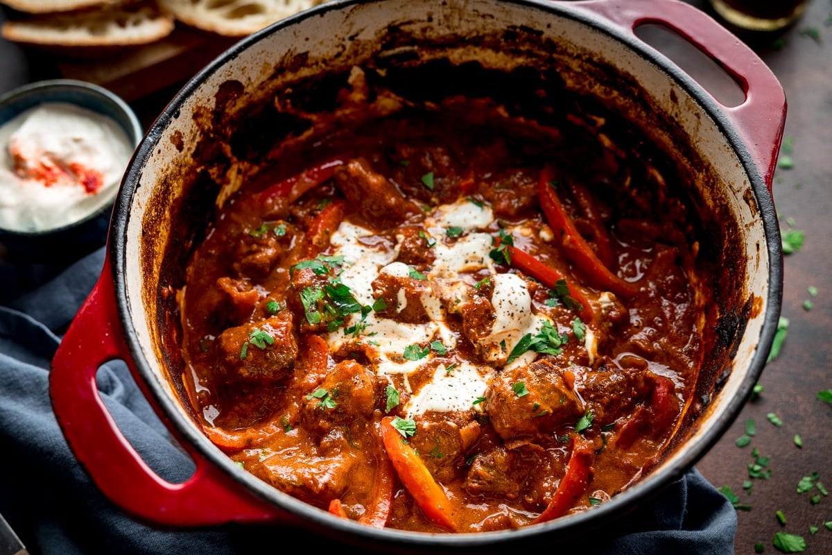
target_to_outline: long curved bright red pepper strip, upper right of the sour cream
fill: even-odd
[[[625,298],[636,295],[639,290],[638,286],[622,280],[608,270],[607,266],[598,260],[592,248],[587,245],[587,241],[578,233],[575,222],[569,217],[560,199],[557,198],[554,188],[550,185],[553,179],[552,167],[544,166],[540,172],[540,179],[537,181],[537,196],[552,230],[562,235],[561,246],[564,253],[597,287]]]

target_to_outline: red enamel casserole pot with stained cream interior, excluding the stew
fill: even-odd
[[[745,100],[736,107],[717,102],[636,37],[636,27],[648,23],[671,29],[715,59]],[[494,72],[557,72],[568,90],[597,97],[669,153],[691,183],[703,221],[715,226],[711,255],[726,272],[714,278],[715,298],[703,315],[714,333],[685,432],[650,473],[608,503],[510,532],[369,528],[246,473],[191,415],[171,291],[181,285],[182,260],[196,230],[218,202],[213,180],[227,185],[235,179],[207,179],[210,171],[196,167],[197,160],[244,158],[234,140],[252,139],[246,133],[257,129],[246,118],[250,107],[296,80],[400,59],[417,66],[443,59],[478,62]],[[782,253],[770,186],[784,122],[785,96],[770,70],[710,17],[676,0],[336,0],[302,12],[245,38],[206,67],[141,142],[116,201],[102,275],[52,363],[57,420],[102,492],[132,516],[164,528],[291,523],[377,548],[478,551],[596,528],[681,478],[726,431],[760,376],[780,315]],[[237,166],[238,177],[245,167]],[[126,360],[194,459],[196,473],[185,483],[156,475],[108,413],[95,374],[111,359]]]

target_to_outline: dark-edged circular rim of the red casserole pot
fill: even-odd
[[[389,0],[376,0],[376,2],[387,2]],[[561,533],[572,537],[577,534],[586,533],[587,530],[601,523],[609,523],[610,519],[618,518],[630,511],[636,501],[647,499],[660,493],[663,488],[682,478],[685,473],[691,470],[695,463],[707,453],[707,451],[725,434],[735,419],[740,414],[740,409],[749,399],[753,386],[765,366],[768,349],[772,343],[780,316],[780,305],[782,297],[782,247],[780,245],[780,227],[777,222],[774,201],[765,183],[760,167],[755,163],[753,156],[745,147],[745,144],[732,124],[730,117],[726,115],[724,107],[716,102],[701,85],[692,77],[682,72],[674,62],[665,57],[661,52],[641,41],[632,33],[626,32],[615,22],[606,17],[598,16],[592,11],[582,9],[586,2],[552,2],[549,0],[507,0],[507,2],[521,7],[533,7],[542,12],[562,17],[576,22],[583,26],[592,28],[611,37],[623,47],[629,48],[639,57],[659,67],[661,72],[676,82],[691,98],[700,104],[706,115],[716,124],[716,127],[726,137],[726,142],[740,160],[745,174],[750,181],[750,189],[753,191],[755,201],[759,206],[760,218],[762,219],[765,231],[765,241],[769,260],[768,267],[768,290],[766,299],[766,313],[763,326],[760,330],[758,348],[755,351],[750,363],[748,374],[742,380],[738,394],[730,399],[726,410],[715,419],[712,425],[696,442],[686,444],[685,452],[681,454],[679,463],[673,468],[663,468],[661,472],[650,473],[641,478],[638,483],[626,488],[622,493],[612,497],[610,501],[592,508],[591,511],[567,515],[557,518],[548,523],[520,528],[517,530],[503,530],[496,532],[483,532],[471,534],[438,534],[438,533],[414,533],[394,528],[371,528],[348,519],[337,518],[323,510],[314,508],[307,503],[291,497],[287,493],[272,488],[253,475],[240,475],[234,472],[236,465],[221,453],[218,448],[210,443],[205,435],[201,434],[194,423],[187,419],[177,408],[176,401],[171,399],[169,392],[156,383],[151,364],[142,353],[141,346],[137,339],[136,328],[131,319],[131,311],[127,300],[126,285],[126,230],[131,218],[131,204],[137,184],[141,181],[146,162],[164,134],[168,123],[176,118],[181,107],[191,95],[201,87],[215,72],[226,62],[239,56],[241,52],[253,47],[258,42],[265,40],[275,32],[280,32],[287,27],[294,27],[307,19],[318,17],[320,14],[329,11],[339,11],[354,5],[365,3],[361,0],[333,0],[314,7],[305,12],[287,17],[280,22],[266,27],[249,37],[237,42],[234,46],[223,52],[213,62],[191,78],[180,92],[156,118],[145,138],[141,141],[134,152],[128,165],[125,177],[121,183],[121,189],[116,196],[116,203],[111,219],[111,228],[108,238],[108,255],[112,260],[112,279],[115,285],[116,309],[119,317],[119,324],[123,330],[124,339],[128,352],[131,354],[132,371],[137,374],[146,391],[152,396],[153,404],[157,413],[163,415],[163,419],[169,426],[172,426],[178,437],[196,448],[196,453],[202,458],[208,459],[218,466],[230,479],[234,480],[248,491],[267,503],[274,504],[279,508],[300,517],[305,523],[317,524],[320,530],[328,533],[348,533],[351,538],[364,540],[374,547],[389,545],[410,546],[418,545],[422,548],[483,548],[503,545],[508,541],[515,542],[520,539],[536,538],[541,534]],[[760,349],[762,347],[762,349]],[[343,536],[341,536],[343,538]]]

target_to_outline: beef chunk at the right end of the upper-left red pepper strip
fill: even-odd
[[[369,161],[359,158],[335,170],[335,183],[364,221],[376,229],[388,229],[419,214],[418,206],[404,198]]]

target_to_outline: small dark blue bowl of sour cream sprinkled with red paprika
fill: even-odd
[[[0,97],[0,244],[30,257],[103,245],[143,136],[110,91],[70,79]]]

